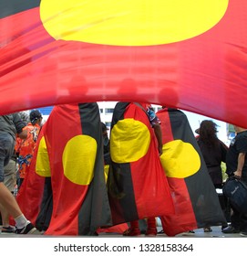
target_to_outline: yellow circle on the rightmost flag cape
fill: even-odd
[[[201,158],[195,148],[181,140],[163,144],[161,165],[169,177],[184,178],[199,171]]]

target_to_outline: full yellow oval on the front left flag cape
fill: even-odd
[[[71,138],[64,149],[64,175],[77,185],[89,185],[94,176],[97,142],[88,135]]]

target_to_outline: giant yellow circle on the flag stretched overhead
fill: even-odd
[[[40,17],[55,39],[152,46],[201,35],[228,5],[229,0],[42,0]]]

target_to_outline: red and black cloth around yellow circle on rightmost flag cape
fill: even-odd
[[[226,220],[186,115],[180,110],[163,109],[157,112],[157,116],[161,121],[163,144],[181,140],[183,143],[190,144],[201,158],[201,166],[195,174],[184,178],[168,177],[175,214],[160,217],[165,233],[174,236],[207,225],[221,225]],[[183,155],[180,155],[179,148],[176,157],[177,161],[180,161],[180,157],[183,157]],[[193,161],[192,158],[191,161]],[[176,170],[177,173],[181,171],[183,170]]]

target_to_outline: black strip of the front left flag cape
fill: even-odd
[[[94,138],[98,144],[94,178],[78,213],[78,234],[95,235],[100,226],[112,225],[104,177],[102,129],[96,102],[81,103],[78,107],[82,133]]]

